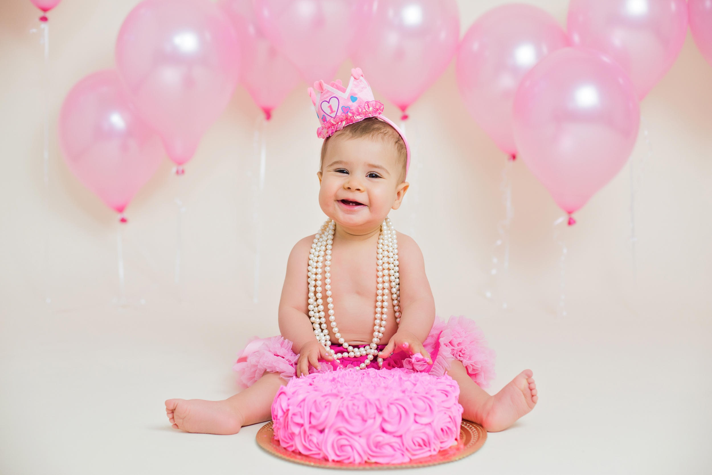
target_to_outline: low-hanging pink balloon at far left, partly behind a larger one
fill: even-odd
[[[59,142],[72,172],[123,212],[158,169],[161,140],[130,106],[116,71],[98,71],[70,90],[59,114]]]

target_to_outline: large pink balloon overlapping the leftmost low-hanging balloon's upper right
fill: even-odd
[[[209,0],[145,0],[128,14],[116,64],[132,102],[177,165],[229,103],[239,46],[225,14]]]

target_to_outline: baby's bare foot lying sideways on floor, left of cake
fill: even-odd
[[[199,434],[237,434],[244,417],[227,401],[169,399],[166,415],[174,429]]]

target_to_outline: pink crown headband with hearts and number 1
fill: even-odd
[[[316,90],[316,92],[315,92]],[[318,80],[314,89],[308,88],[307,92],[316,109],[321,127],[316,130],[319,138],[327,138],[347,125],[361,120],[375,117],[393,127],[405,143],[407,155],[406,173],[410,167],[410,147],[405,134],[392,120],[383,115],[383,104],[373,98],[371,86],[363,77],[361,68],[351,70],[349,86],[345,88],[341,80],[337,79],[331,84]]]

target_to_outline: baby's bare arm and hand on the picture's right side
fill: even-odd
[[[400,307],[403,317],[398,331],[389,340],[380,357],[388,357],[397,349],[413,355],[420,353],[430,363],[430,355],[422,343],[428,337],[435,321],[435,300],[425,275],[423,253],[409,236],[398,233],[398,273]],[[395,325],[395,315],[390,324]]]

